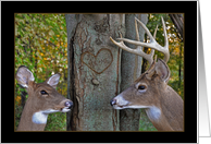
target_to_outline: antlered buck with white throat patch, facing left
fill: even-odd
[[[136,40],[122,38],[121,35],[121,38],[117,38],[120,43],[117,43],[110,37],[112,43],[117,47],[128,52],[141,56],[150,63],[149,69],[142,73],[128,88],[112,98],[110,104],[114,109],[145,108],[148,118],[159,131],[183,131],[184,103],[181,96],[167,85],[170,79],[170,69],[166,64],[170,58],[169,41],[163,17],[161,19],[164,33],[164,47],[160,46],[156,41],[156,33],[154,36],[152,36],[145,24],[142,24],[136,17]],[[150,38],[150,43],[139,41],[137,22],[146,31]],[[154,32],[157,32],[157,29]],[[128,48],[126,45],[124,45],[124,41],[136,45],[136,48]],[[145,53],[141,46],[151,48],[151,52],[149,55]],[[164,60],[158,59],[157,62],[157,56],[153,60],[154,50],[164,53]]]

